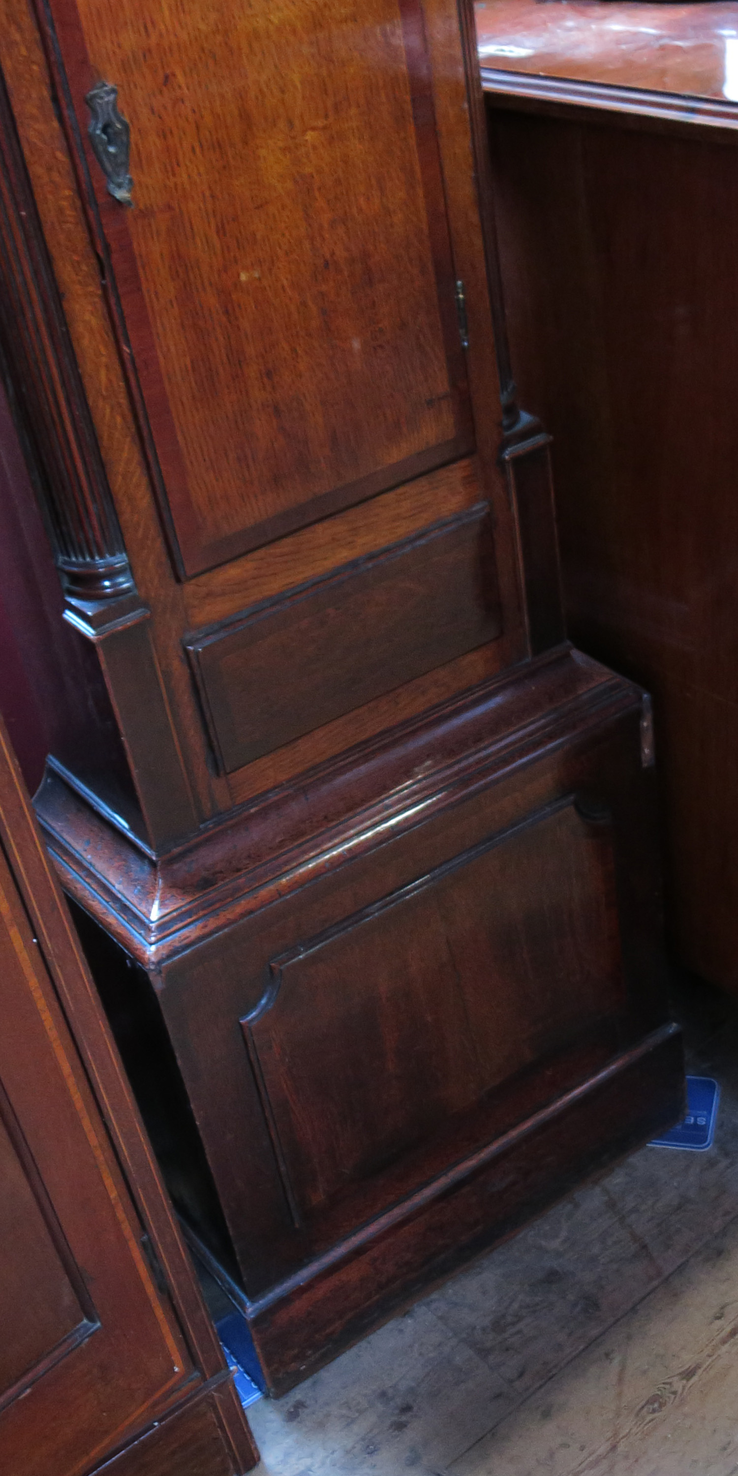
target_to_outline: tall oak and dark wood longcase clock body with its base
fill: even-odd
[[[52,12],[63,65],[53,44]],[[509,1232],[546,1196],[558,1193],[570,1175],[586,1170],[593,1157],[618,1151],[675,1113],[680,1097],[679,1048],[661,990],[658,880],[649,830],[652,776],[642,769],[639,745],[642,694],[565,646],[525,660],[533,638],[523,602],[534,558],[525,564],[524,528],[520,517],[515,521],[506,472],[497,461],[502,431],[509,427],[502,425],[493,356],[499,325],[490,304],[494,252],[487,249],[480,220],[481,94],[475,71],[466,66],[469,4],[462,6],[462,28],[452,0],[401,0],[400,6],[396,0],[370,0],[360,15],[345,0],[332,0],[320,10],[316,0],[301,0],[298,7],[277,4],[269,13],[246,3],[238,15],[232,0],[218,0],[208,15],[171,0],[154,16],[134,13],[125,0],[115,24],[99,0],[80,0],[80,6],[72,0],[52,0],[50,6],[38,0],[35,13],[44,30],[90,239],[102,263],[102,292],[125,366],[137,432],[152,487],[156,484],[158,527],[151,497],[143,493],[137,449],[131,490],[120,478],[115,496],[136,577],[140,561],[140,587],[146,583],[152,599],[151,664],[161,672],[164,706],[171,703],[173,741],[176,734],[183,745],[182,769],[198,770],[198,818],[213,816],[217,804],[227,804],[227,794],[215,779],[210,809],[202,800],[207,787],[202,745],[198,748],[192,726],[192,694],[189,703],[180,701],[184,595],[171,570],[165,570],[161,533],[173,552],[182,537],[189,540],[189,565],[180,565],[180,574],[202,571],[254,546],[254,540],[286,534],[347,502],[384,494],[409,475],[438,471],[462,453],[465,459],[472,449],[478,450],[483,489],[477,502],[483,508],[489,503],[494,531],[499,638],[443,660],[449,651],[465,649],[471,627],[474,641],[490,633],[487,627],[480,632],[484,598],[469,579],[469,568],[480,567],[477,555],[474,564],[466,555],[459,559],[453,580],[446,577],[449,564],[441,570],[444,577],[437,568],[435,587],[427,571],[418,579],[418,570],[397,580],[401,598],[396,592],[394,598],[382,595],[375,601],[375,586],[354,624],[362,629],[363,621],[366,639],[372,618],[376,635],[384,636],[384,666],[379,673],[378,661],[376,680],[372,675],[366,685],[366,672],[356,660],[356,630],[345,629],[347,620],[341,627],[341,649],[344,655],[348,651],[344,673],[359,683],[351,700],[362,706],[354,713],[331,706],[335,692],[350,683],[348,677],[335,680],[331,675],[335,651],[325,641],[320,646],[328,607],[320,608],[311,626],[311,648],[319,655],[313,672],[320,672],[323,706],[310,708],[307,672],[300,701],[295,697],[300,720],[291,729],[303,732],[303,738],[283,742],[282,769],[263,756],[255,760],[263,765],[258,775],[244,778],[242,770],[235,776],[229,794],[238,793],[238,784],[241,794],[248,785],[261,787],[239,812],[208,824],[199,834],[195,827],[190,835],[170,832],[170,849],[156,856],[94,813],[53,766],[40,796],[40,813],[65,884],[92,918],[89,927],[105,927],[117,940],[108,958],[111,971],[120,974],[115,987],[128,1010],[128,1041],[143,1039],[146,1020],[158,1013],[162,1073],[167,1060],[179,1072],[180,1088],[164,1101],[164,1126],[182,1147],[183,1117],[189,1114],[187,1132],[199,1134],[220,1200],[213,1219],[199,1204],[195,1209],[202,1209],[201,1219],[193,1218],[210,1237],[211,1250],[217,1240],[214,1222],[220,1228],[226,1222],[272,1383],[283,1387],[310,1362],[329,1356],[347,1337],[413,1294],[430,1275],[450,1269],[480,1237]],[[248,65],[254,56],[263,63],[258,68]],[[184,63],[190,90],[183,87]],[[108,72],[112,65],[115,75],[109,80],[121,87],[121,108],[133,124],[131,171],[139,204],[131,213],[121,211],[105,192],[83,142],[83,97],[97,77],[93,68]],[[27,109],[28,121],[21,72],[16,66],[13,96]],[[230,130],[226,145],[217,127],[221,118]],[[31,134],[32,128],[28,136],[38,193],[44,174],[38,139],[34,142]],[[59,142],[58,134],[53,137]],[[244,139],[252,148],[244,146]],[[362,173],[362,161],[353,167],[359,151],[372,162],[370,179]],[[276,193],[258,193],[258,187],[275,182]],[[376,210],[376,182],[387,193],[388,218]],[[61,257],[62,233],[50,215],[44,223]],[[306,252],[307,238],[320,249]],[[68,249],[72,242],[75,249],[80,246],[72,232],[63,239]],[[301,249],[294,249],[295,242]],[[263,246],[263,254],[272,255],[266,266],[260,258],[249,266],[241,260],[242,246]],[[279,298],[275,286],[260,310],[261,286],[273,286],[269,266],[288,249],[295,263],[295,272],[289,264],[282,273],[289,301]],[[306,255],[311,273],[307,291],[297,270]],[[145,272],[139,270],[142,263],[148,263]],[[232,279],[235,266],[238,285]],[[249,277],[249,270],[261,276]],[[468,303],[466,356],[453,307],[458,277],[463,277]],[[81,303],[80,294],[74,300],[75,331],[90,378],[92,339],[100,329],[97,325],[86,332]],[[99,314],[100,303],[92,307],[92,294],[84,304],[93,317]],[[353,323],[360,329],[356,335]],[[350,338],[341,337],[347,329]],[[359,337],[359,350],[353,337]],[[96,342],[100,345],[99,338]],[[105,348],[108,353],[108,341]],[[356,373],[353,353],[359,359]],[[109,369],[109,357],[105,363]],[[255,370],[249,378],[251,366]],[[267,370],[277,378],[269,394]],[[111,384],[115,435],[111,432],[105,444],[114,456],[118,446],[120,477],[124,455],[134,443],[125,440],[130,421],[121,416],[121,376],[111,375]],[[258,393],[264,390],[261,400],[257,396],[258,437],[249,438],[244,385],[248,391],[254,385]],[[469,434],[466,391],[475,438]],[[314,413],[304,425],[307,403]],[[100,397],[94,406],[102,447],[108,410]],[[254,468],[264,472],[263,486]],[[201,478],[195,489],[199,527],[184,521],[177,500],[183,472]],[[242,496],[245,483],[248,492]],[[438,492],[438,483],[434,486]],[[328,502],[320,500],[323,494]],[[404,502],[403,489],[403,517],[410,517],[418,487],[407,497]],[[530,503],[534,527],[536,509],[540,512],[543,503],[536,496]],[[394,499],[382,503],[388,523],[394,508]],[[415,518],[421,512],[418,500],[413,509]],[[472,527],[477,517],[483,521],[477,503],[469,511],[455,508],[453,517],[462,528]],[[297,608],[303,598],[322,598],[342,577],[331,573],[341,570],[335,558],[320,565],[334,546],[337,527],[339,546],[363,540],[351,579],[359,587],[366,576],[369,589],[369,576],[382,562],[388,567],[409,552],[406,546],[401,555],[388,558],[382,551],[393,534],[379,524],[379,517],[373,528],[369,518],[350,525],[332,523],[325,546],[320,549],[317,534],[314,542],[306,534],[297,558],[295,545],[285,537],[285,570],[297,570],[303,556],[306,564],[313,561],[317,574],[307,577],[317,579],[320,593],[317,586],[310,593],[295,590],[294,579],[282,589],[272,583],[261,596],[272,602],[269,618],[285,590],[291,590],[289,604]],[[415,552],[428,549],[435,537],[441,540],[440,530],[430,524],[428,506],[422,521],[400,537],[410,537]],[[264,554],[255,565],[267,582],[276,579],[279,555],[272,564],[270,558]],[[246,568],[246,562],[241,564],[235,582]],[[306,574],[298,573],[297,582],[304,580]],[[208,598],[221,598],[217,582],[202,587]],[[487,593],[492,587],[490,580]],[[254,596],[241,608],[249,611],[255,629],[252,604]],[[462,641],[455,627],[459,618],[466,629]],[[441,664],[428,679],[418,672],[427,672],[430,635],[435,646],[431,660]],[[450,641],[449,648],[444,641]],[[282,670],[295,685],[289,645],[295,642],[285,632]],[[375,652],[365,667],[373,660]],[[267,666],[273,677],[279,663],[264,661],[263,670]],[[512,672],[500,679],[509,666]],[[496,680],[459,692],[469,675],[480,680],[490,667],[496,667]],[[140,652],[131,646],[111,682],[127,741],[139,738],[148,722],[143,688],[136,710],[140,672]],[[246,676],[236,675],[246,680],[248,667]],[[282,697],[273,691],[269,697],[277,708]],[[435,706],[419,713],[422,703]],[[308,735],[300,728],[306,716],[319,723]],[[399,716],[406,720],[397,726]],[[245,731],[242,719],[239,714],[236,737]],[[396,723],[391,732],[390,719]],[[366,739],[372,723],[384,731],[375,729]],[[270,741],[288,737],[283,704],[272,722]],[[366,741],[360,744],[360,738]],[[342,753],[335,751],[338,745]],[[146,772],[154,782],[159,747],[152,723]],[[164,797],[170,768],[171,762],[161,765]],[[267,782],[275,787],[264,793]],[[567,813],[567,822],[551,830],[548,821],[559,810]],[[517,846],[520,863],[511,859],[518,856]],[[432,878],[427,890],[434,900],[424,909],[416,905],[416,893],[424,892],[427,878]],[[509,912],[503,902],[508,892]],[[382,928],[373,930],[372,909],[382,906]],[[443,940],[434,928],[443,909],[452,952],[463,958],[462,986],[447,953],[440,967]],[[401,912],[412,921],[410,940],[396,927]],[[360,925],[348,927],[357,917]],[[241,1021],[264,998],[272,964],[289,953],[289,977],[297,983],[282,1002],[292,998],[297,1011],[303,1008],[304,1035],[316,1042],[316,1058],[322,1032],[334,1029],[342,1035],[338,1046],[347,1058],[353,1051],[356,1061],[345,958],[341,967],[335,964],[335,936],[331,948],[313,951],[313,962],[297,955],[301,943],[325,943],[332,930],[342,930],[344,943],[348,933],[366,939],[366,964],[376,965],[368,967],[363,993],[359,990],[356,998],[357,1014],[363,1011],[368,1023],[375,1076],[387,1075],[391,1085],[391,1132],[384,1141],[376,1131],[366,1091],[357,1091],[353,1119],[350,1092],[344,1100],[353,1138],[341,1162],[331,1159],[328,1145],[335,1111],[316,1123],[316,1132],[323,1135],[314,1156],[317,1169],[306,1166],[308,1154],[294,1132],[295,1216],[285,1194],[289,1175],[285,1178],[279,1163],[285,1147],[276,1150],[289,1117],[285,1098],[291,1086],[285,1085],[285,1072],[272,1063],[269,1089],[260,1091],[254,1067],[261,1070],[264,1086],[264,1036],[258,1060],[249,1063]],[[604,937],[607,948],[599,946]],[[360,979],[362,958],[354,958],[351,949],[348,953],[351,976]],[[403,965],[399,974],[388,962],[391,953]],[[589,968],[595,955],[596,980]],[[131,959],[136,970],[128,967]],[[372,1029],[370,973],[382,984],[381,1029]],[[137,1015],[142,976],[151,1005],[149,1014],[143,1011],[146,1020]],[[567,989],[574,1002],[564,1002]],[[474,1023],[466,1030],[459,995]],[[527,999],[537,1021],[530,1035],[523,1026]],[[279,1018],[277,1005],[279,996],[273,1020]],[[505,1029],[496,1033],[490,1017],[497,1007]],[[449,1024],[453,1041],[444,1041]],[[477,1063],[472,1036],[480,1051]],[[425,1097],[418,1070],[413,1075],[409,1041],[424,1054],[434,1086]],[[646,1060],[655,1067],[646,1070]],[[372,1060],[366,1066],[370,1070]],[[303,1076],[308,1076],[307,1067]],[[360,1080],[359,1070],[353,1076]],[[624,1125],[614,1132],[605,1110],[593,1141],[592,1114],[583,1103],[589,1098],[596,1104],[602,1100],[599,1089],[613,1088],[605,1106],[620,1113],[627,1082]],[[310,1082],[303,1097],[314,1106]],[[294,1108],[294,1103],[289,1106]],[[573,1137],[567,1137],[568,1117],[577,1123]],[[295,1111],[292,1126],[294,1119]],[[275,1126],[276,1134],[270,1131]],[[295,1170],[301,1151],[303,1165]],[[192,1207],[198,1196],[192,1176],[177,1182],[173,1173],[171,1187],[180,1207],[186,1209],[187,1201]],[[499,1206],[497,1218],[490,1216],[490,1200]],[[301,1213],[303,1224],[297,1225]]]

